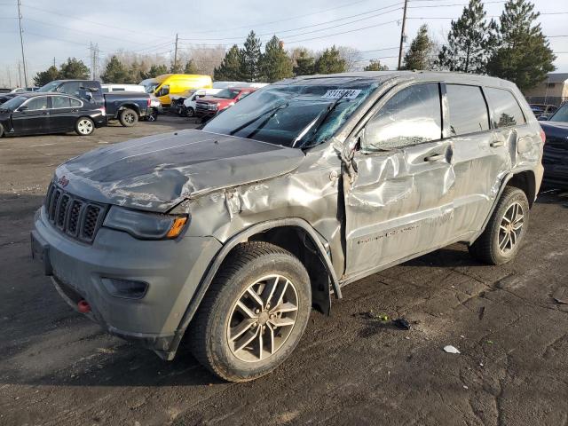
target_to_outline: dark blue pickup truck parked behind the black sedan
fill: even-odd
[[[122,126],[131,127],[140,118],[151,113],[150,95],[147,93],[104,93],[95,80],[55,80],[39,91],[67,93],[106,109],[108,120],[118,120]]]

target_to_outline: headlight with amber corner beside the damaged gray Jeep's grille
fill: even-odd
[[[161,215],[112,206],[103,226],[130,233],[135,238],[162,240],[176,238],[187,222],[187,216]]]

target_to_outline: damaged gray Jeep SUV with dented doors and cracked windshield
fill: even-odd
[[[32,253],[108,332],[228,381],[265,375],[312,307],[457,241],[503,264],[527,232],[543,133],[517,87],[365,72],[266,86],[201,130],[60,165]]]

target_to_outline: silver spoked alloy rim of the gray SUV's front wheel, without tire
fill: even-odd
[[[291,280],[269,275],[256,280],[233,305],[227,341],[233,355],[246,362],[269,358],[280,350],[296,324],[298,296]]]

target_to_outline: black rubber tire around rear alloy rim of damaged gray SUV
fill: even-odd
[[[500,248],[500,242],[506,240],[505,235],[507,233],[506,230],[503,230],[503,221],[505,220],[505,214],[507,213],[509,216],[509,209],[515,204],[518,204],[522,210],[522,225],[518,233],[515,233],[515,244],[511,244],[511,248],[503,251]],[[519,216],[516,215],[516,217]],[[493,215],[489,219],[485,231],[469,246],[469,253],[485,264],[506,264],[517,255],[528,231],[528,225],[529,201],[526,198],[526,194],[514,186],[507,186],[493,210]],[[505,227],[507,226],[505,225]],[[509,245],[506,244],[505,247],[508,248]]]

